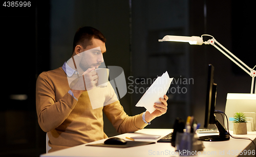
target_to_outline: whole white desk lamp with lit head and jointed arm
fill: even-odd
[[[210,36],[212,37],[212,39],[209,39],[208,41],[203,41],[203,36]],[[253,94],[253,88],[254,88],[254,77],[256,76],[256,71],[253,70],[256,65],[254,66],[254,68],[249,68],[249,66],[247,66],[244,62],[242,62],[238,57],[236,57],[235,55],[233,55],[230,51],[228,51],[225,47],[222,46],[222,44],[220,44],[213,36],[211,35],[207,35],[204,34],[201,37],[199,36],[174,36],[174,35],[166,35],[163,37],[163,39],[159,39],[158,41],[180,41],[180,42],[188,42],[189,44],[198,44],[198,45],[202,45],[204,44],[211,44],[212,46],[214,46],[216,49],[218,49],[221,53],[223,53],[226,57],[228,57],[230,60],[232,60],[234,63],[236,63],[241,69],[243,69],[247,74],[249,74],[252,77],[252,81],[251,81],[251,93]],[[217,43],[218,46],[215,44]],[[227,55],[227,53],[225,53],[223,50],[225,50],[229,55],[231,55],[233,58],[231,58],[229,55]],[[243,67],[242,65],[245,67]],[[254,94],[256,94],[256,87],[254,89]]]

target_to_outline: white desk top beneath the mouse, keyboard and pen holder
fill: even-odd
[[[172,129],[142,129],[134,133],[124,133],[117,137],[125,139],[125,137],[136,136],[136,134],[146,133],[146,134],[157,134],[161,138],[166,134],[172,132]],[[213,133],[211,133],[213,134]],[[233,134],[230,131],[230,134]],[[209,134],[201,133],[199,136],[206,136]],[[249,132],[246,135],[235,135],[236,137],[247,137],[256,142],[256,131]],[[127,140],[127,139],[125,139]],[[105,139],[92,142],[90,144],[103,143]],[[128,141],[128,140],[127,140]],[[136,140],[136,141],[152,141],[157,142],[157,140]],[[229,141],[222,142],[203,142],[205,148],[203,151],[197,152],[198,155],[205,156],[238,156],[240,151],[253,150],[254,145],[249,140],[239,140],[230,138]],[[130,147],[130,148],[109,148],[109,147],[94,147],[86,146],[87,144],[82,144],[79,146],[71,147],[68,149],[63,149],[55,151],[48,154],[42,154],[44,156],[179,156],[178,152],[175,154],[175,148],[170,145],[170,143],[156,143],[151,145]],[[245,152],[245,151],[244,151]],[[194,152],[195,153],[195,152]],[[200,153],[200,154],[199,154]],[[254,155],[255,156],[255,155]]]

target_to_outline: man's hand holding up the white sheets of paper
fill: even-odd
[[[166,95],[164,95],[163,97],[164,97],[164,99],[159,98],[159,100],[162,102],[161,104],[155,103],[154,107],[156,108],[156,110],[152,114],[150,114],[149,111],[146,111],[146,113],[145,113],[145,121],[147,123],[152,121],[156,117],[159,117],[159,116],[161,116],[161,115],[166,113],[168,97]]]

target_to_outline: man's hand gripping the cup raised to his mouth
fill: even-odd
[[[94,70],[95,68],[89,68],[71,87],[71,91],[77,99],[80,97],[82,92],[89,91],[90,89],[94,88],[95,84],[98,82],[98,75]]]

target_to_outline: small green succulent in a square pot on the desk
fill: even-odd
[[[234,113],[234,125],[233,125],[233,133],[234,134],[247,134],[247,126],[246,126],[246,117],[244,113]]]

